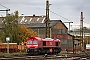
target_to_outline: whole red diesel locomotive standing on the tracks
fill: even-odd
[[[39,37],[30,37],[26,43],[26,51],[28,54],[42,54],[46,53],[60,53],[60,40],[52,38],[39,38]]]

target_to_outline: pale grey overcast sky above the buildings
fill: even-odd
[[[49,0],[50,19],[62,22],[73,22],[71,28],[79,28],[80,13],[83,12],[84,26],[90,27],[90,0]],[[46,0],[0,0],[0,4],[10,9],[9,13],[16,10],[19,15],[45,15]],[[0,9],[6,9],[0,5]],[[0,12],[0,16],[5,12]],[[68,23],[65,23],[67,27]]]

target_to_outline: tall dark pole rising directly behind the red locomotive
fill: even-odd
[[[46,38],[50,38],[49,1],[46,1]]]

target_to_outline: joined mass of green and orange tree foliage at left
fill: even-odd
[[[10,43],[25,42],[30,36],[36,36],[37,33],[27,26],[18,25],[18,11],[3,17],[2,31],[0,40],[6,42],[6,37],[10,37]]]

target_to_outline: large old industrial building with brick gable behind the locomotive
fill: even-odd
[[[38,37],[45,38],[45,20],[45,16],[20,16],[18,24],[27,25],[29,28],[38,33]],[[68,34],[68,28],[61,20],[50,20],[50,36],[54,39],[57,38],[61,40],[62,49],[69,49],[70,51],[73,50],[72,35]]]

